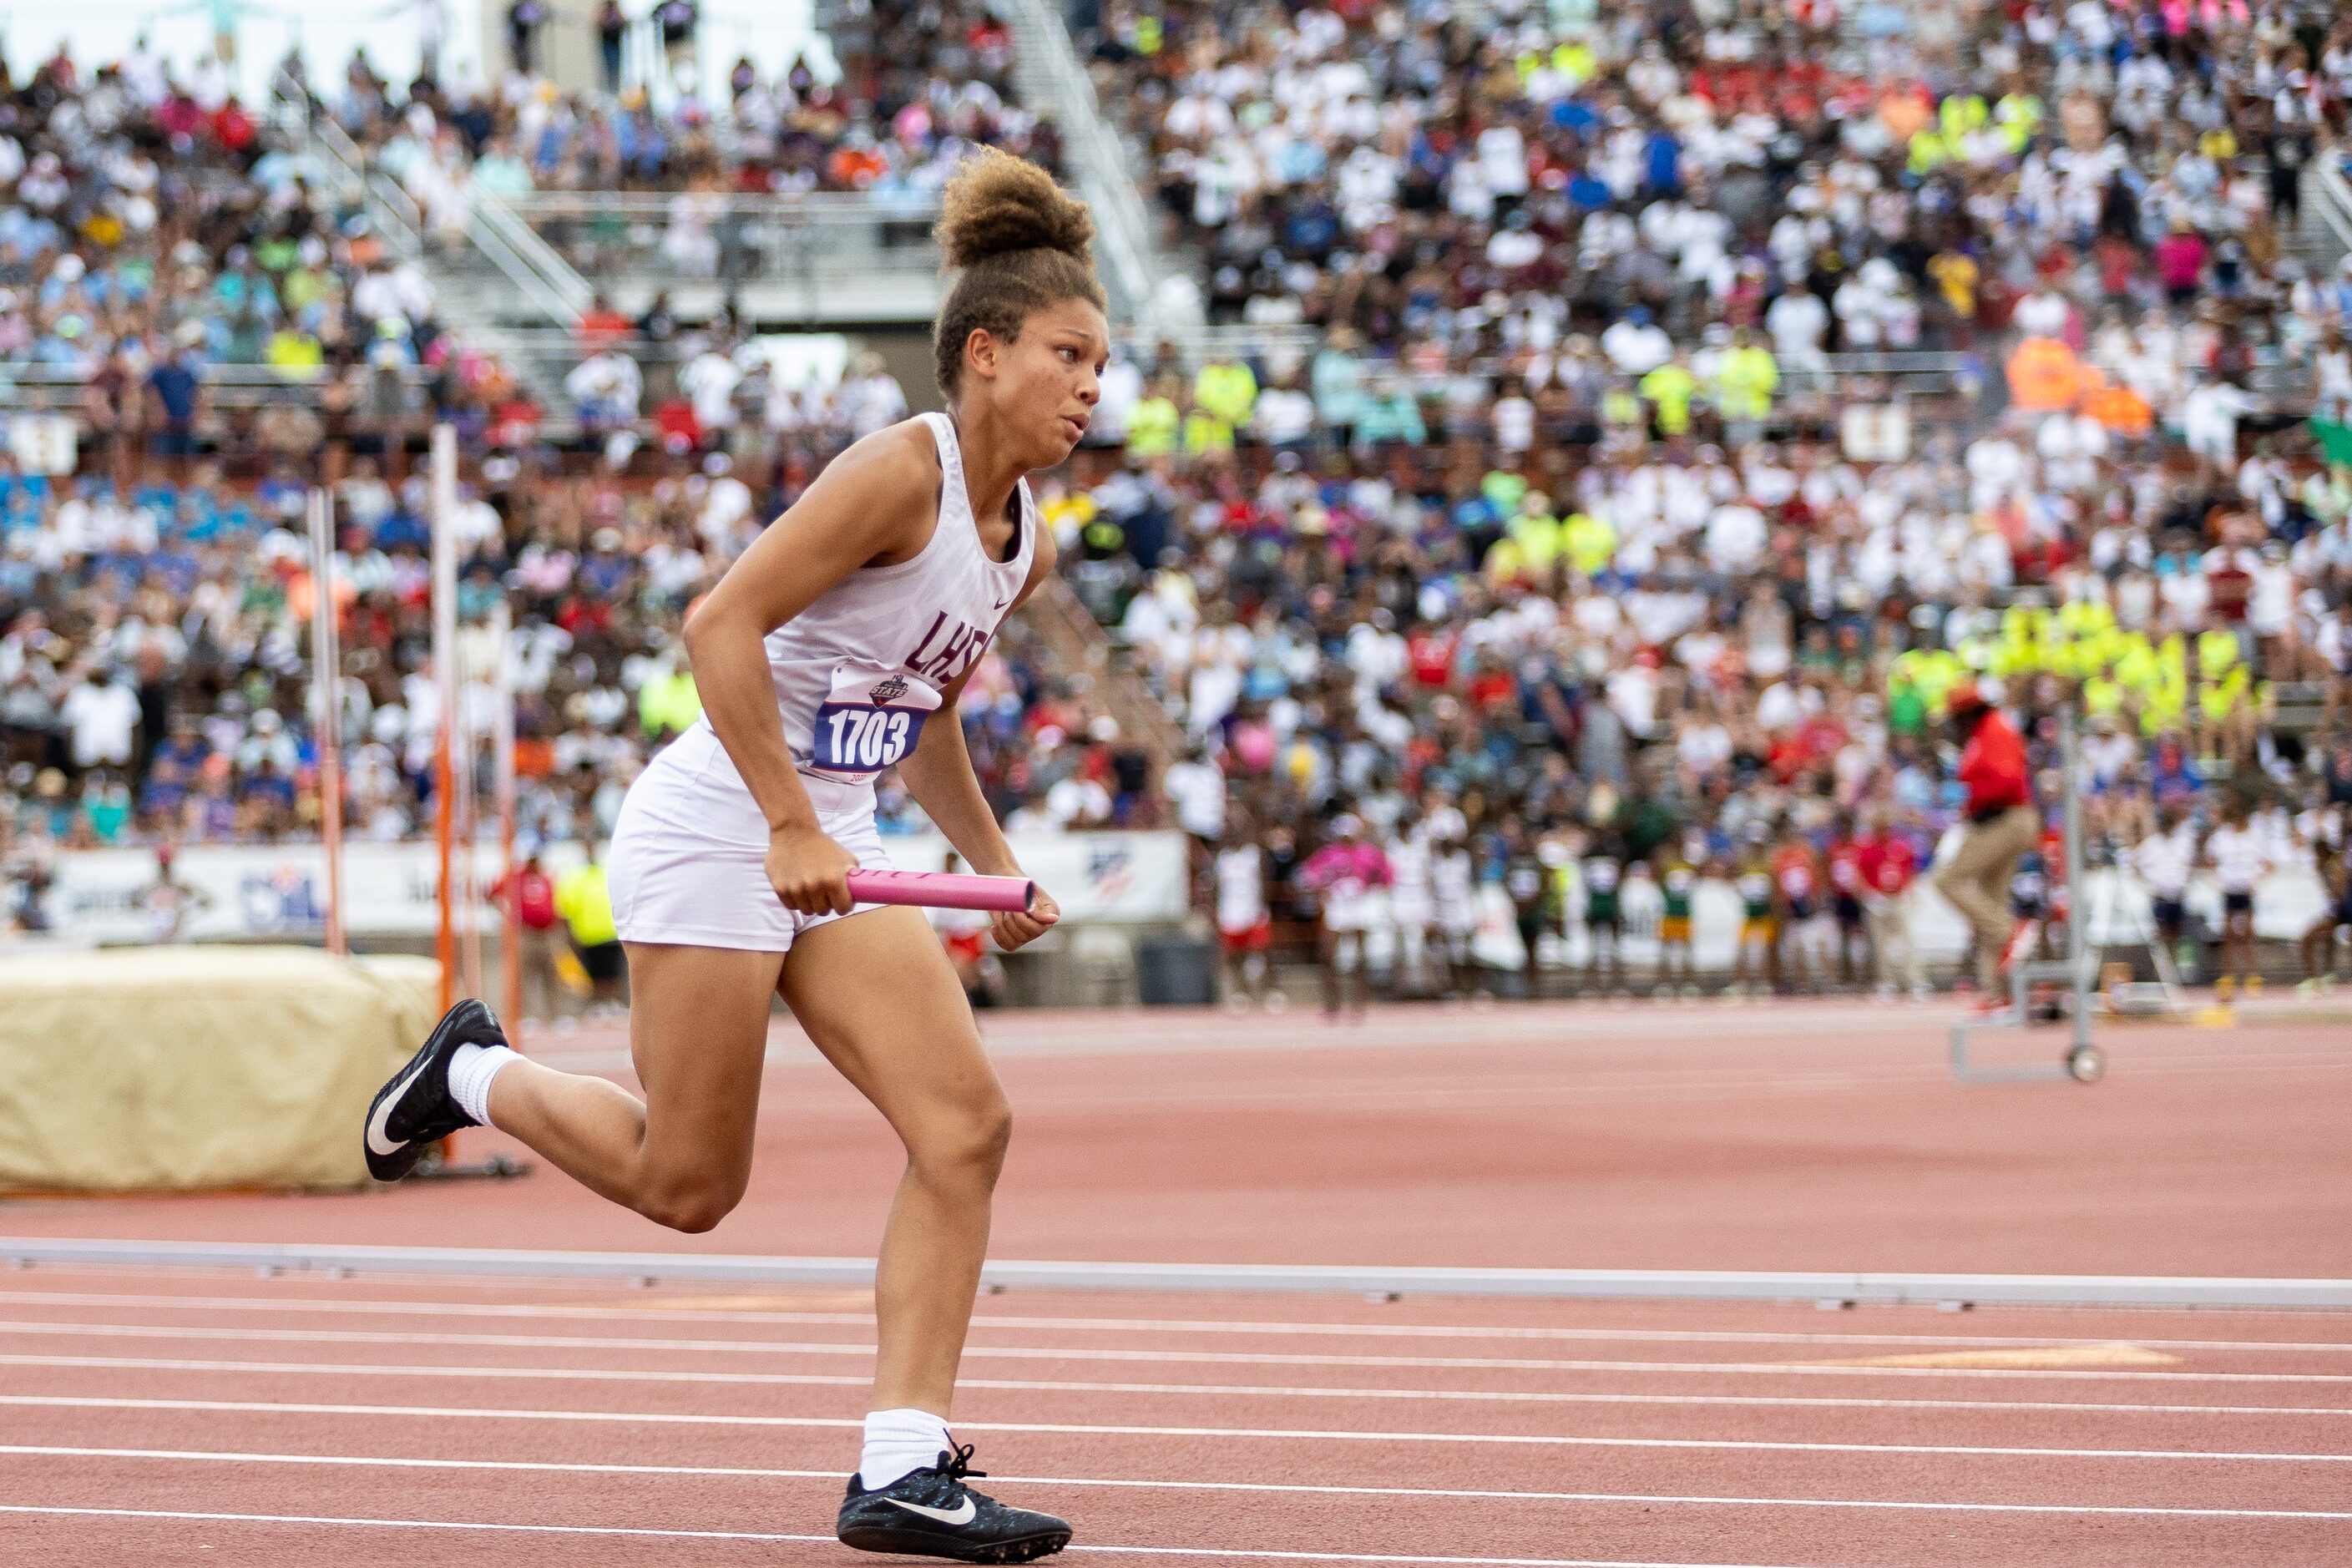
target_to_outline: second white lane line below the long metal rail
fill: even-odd
[[[386,1328],[181,1328],[174,1324],[52,1324],[0,1321],[0,1335],[66,1340],[259,1340],[266,1345],[466,1345],[496,1349],[640,1349],[720,1356],[873,1356],[870,1345],[835,1340],[654,1340],[635,1335],[550,1333],[395,1333]],[[2112,1342],[2112,1340],[2103,1340]],[[2138,1342],[2136,1342],[2138,1345]],[[1289,1352],[1160,1352],[1103,1347],[969,1345],[967,1361],[1112,1361],[1145,1366],[1341,1366],[1381,1371],[1505,1371],[1505,1373],[1722,1373],[1740,1378],[2009,1378],[2032,1382],[2249,1382],[2352,1385],[2352,1373],[2197,1373],[2173,1368],[2023,1368],[2023,1366],[1846,1366],[1813,1361],[1569,1361],[1534,1356],[1315,1356]]]

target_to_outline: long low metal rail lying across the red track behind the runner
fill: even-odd
[[[282,1241],[113,1241],[0,1237],[0,1267],[252,1269],[263,1276],[454,1274],[614,1279],[623,1284],[873,1286],[873,1258],[743,1253],[557,1253],[473,1246],[299,1246]],[[2136,1274],[1856,1274],[1780,1269],[1454,1269],[1261,1262],[990,1260],[983,1291],[1176,1291],[1496,1295],[1534,1300],[1816,1302],[1823,1307],[2286,1307],[2352,1309],[2352,1279],[2206,1279]]]

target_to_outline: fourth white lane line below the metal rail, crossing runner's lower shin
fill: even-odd
[[[0,1394],[0,1406],[40,1410],[216,1410],[247,1415],[416,1415],[428,1420],[607,1422],[626,1427],[866,1427],[863,1418],[706,1415],[682,1410],[510,1410],[503,1406],[332,1406],[268,1399],[129,1399],[101,1394]],[[1129,1427],[1105,1422],[960,1420],[957,1432],[1042,1432],[1073,1436],[1223,1436],[1282,1443],[1498,1443],[1505,1448],[1705,1448],[1733,1453],[1936,1453],[1990,1460],[2225,1460],[2352,1465],[2352,1453],[2263,1453],[2204,1448],[1992,1448],[1971,1443],[1771,1443],[1726,1436],[1559,1436],[1519,1432],[1324,1432],[1315,1427]]]

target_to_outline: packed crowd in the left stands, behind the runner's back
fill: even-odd
[[[908,61],[924,56],[908,49],[908,26],[894,19],[863,52],[842,49],[844,92],[856,82],[863,96],[797,73],[739,82],[724,139],[691,99],[661,125],[642,101],[574,103],[541,87],[485,108],[494,99],[430,78],[393,94],[365,56],[336,113],[388,167],[407,158],[419,190],[428,160],[496,158],[501,125],[532,129],[534,158],[553,158],[560,179],[600,181],[609,169],[595,148],[630,115],[670,150],[614,183],[701,179],[720,148],[800,169],[809,125],[840,136],[877,110],[898,150],[929,158],[971,134],[964,110],[993,99],[964,75],[950,80],[981,92],[962,106],[910,87]],[[983,24],[969,33],[936,47],[950,63],[1002,68],[1002,40]],[[753,94],[814,103],[833,122],[795,120],[762,150]],[[891,169],[906,172],[898,153]],[[442,327],[426,270],[315,174],[226,78],[174,80],[143,45],[96,73],[56,56],[0,92],[0,362],[21,378],[12,456],[0,456],[0,865],[24,872],[0,924],[40,922],[38,903],[16,905],[59,849],[318,832],[306,642],[318,585],[303,538],[315,484],[334,494],[339,524],[329,595],[350,832],[402,839],[433,823],[421,435],[449,421],[466,473],[470,724],[487,733],[485,618],[503,588],[524,837],[597,839],[649,750],[699,712],[677,646],[684,607],[835,451],[906,414],[875,355],[837,381],[793,381],[724,320],[590,313],[569,376],[590,440],[567,463],[506,367]],[[656,334],[659,381],[640,371]],[[278,371],[285,386],[230,407],[212,395],[228,367]],[[61,418],[75,425],[75,473],[26,456]],[[1124,778],[1129,799],[1143,790],[1084,677],[1056,677],[1021,628],[976,672],[964,712],[983,778],[1016,820],[1075,818],[1091,802],[1065,783],[1080,773]],[[884,818],[915,823],[901,792],[887,792]]]

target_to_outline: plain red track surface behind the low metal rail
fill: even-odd
[[[2352,1276],[2352,1027],[2114,1027],[2096,1086],[1957,1086],[1945,1006],[985,1016],[997,1258]],[[2049,1032],[1994,1041],[2051,1058]],[[628,1081],[619,1027],[532,1046]],[[489,1133],[459,1140],[480,1154]],[[0,1204],[52,1237],[870,1255],[898,1152],[788,1023],[743,1206],[499,1190]]]

